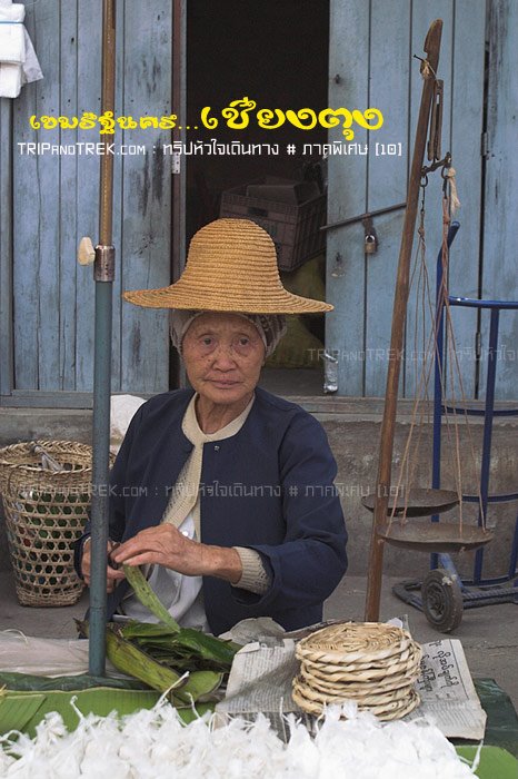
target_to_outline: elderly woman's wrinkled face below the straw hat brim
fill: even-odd
[[[207,313],[197,316],[182,342],[192,387],[212,403],[239,403],[253,392],[265,361],[257,328],[242,316]]]

